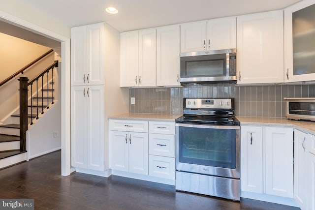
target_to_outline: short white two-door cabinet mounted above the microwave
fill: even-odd
[[[181,24],[181,53],[236,48],[236,18]]]

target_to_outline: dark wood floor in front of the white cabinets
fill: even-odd
[[[33,198],[35,210],[298,210],[176,192],[174,186],[118,176],[60,174],[60,151],[2,169],[0,198]]]

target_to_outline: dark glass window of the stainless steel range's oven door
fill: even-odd
[[[236,168],[236,131],[179,126],[179,162]]]

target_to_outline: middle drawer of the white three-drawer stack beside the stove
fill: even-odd
[[[175,157],[175,136],[150,133],[149,154]]]

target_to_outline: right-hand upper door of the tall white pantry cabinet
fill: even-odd
[[[87,26],[87,72],[88,85],[104,84],[104,25]]]

